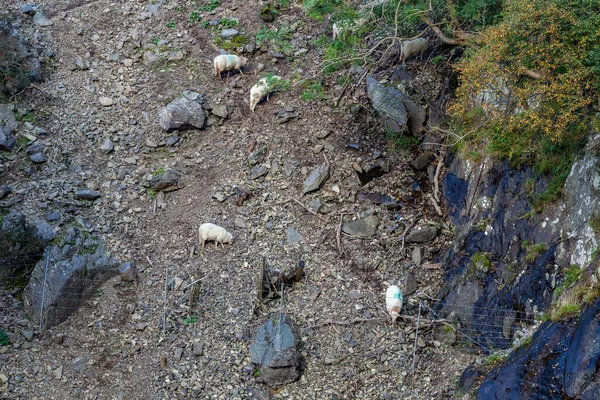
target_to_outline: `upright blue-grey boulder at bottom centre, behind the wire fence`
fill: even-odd
[[[278,387],[300,378],[304,359],[298,349],[299,332],[285,314],[281,320],[269,319],[262,324],[250,345],[250,358],[260,368],[261,379]]]

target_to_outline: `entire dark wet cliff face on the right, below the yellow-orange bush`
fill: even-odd
[[[446,284],[435,312],[454,321],[465,342],[487,352],[511,347],[557,300],[556,289],[565,288],[564,272],[573,265],[595,285],[599,141],[589,141],[561,199],[541,213],[531,212],[532,201],[548,182],[533,170],[489,160],[451,161],[444,191],[457,235],[445,258]],[[577,323],[543,324],[529,346],[487,375],[478,398],[552,398],[553,393],[598,398],[590,393],[597,390],[600,353],[585,349],[584,362],[571,361],[594,337],[598,307],[598,302],[589,306]],[[472,374],[467,370],[463,381]]]

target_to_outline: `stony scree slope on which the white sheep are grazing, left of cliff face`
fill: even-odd
[[[4,397],[452,397],[472,356],[427,315],[453,237],[444,155],[385,136],[443,122],[444,76],[410,59],[322,79],[328,24],[261,10],[2,10],[45,71],[2,108],[2,232],[25,232],[2,253]],[[243,74],[213,76],[219,48]],[[251,112],[265,74],[289,85]],[[200,248],[205,222],[233,243]]]

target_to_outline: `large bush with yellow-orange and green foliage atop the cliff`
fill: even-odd
[[[467,142],[564,180],[597,123],[599,12],[596,1],[506,1],[501,22],[475,36],[457,65],[450,112],[473,132]]]

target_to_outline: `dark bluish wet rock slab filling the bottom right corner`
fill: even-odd
[[[600,300],[577,323],[545,323],[481,384],[477,399],[598,399]]]

